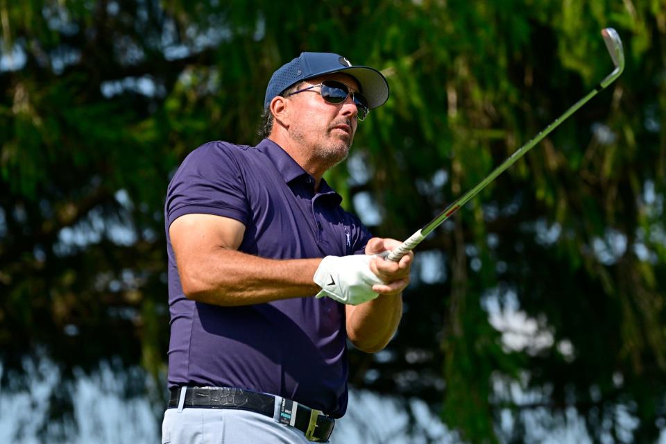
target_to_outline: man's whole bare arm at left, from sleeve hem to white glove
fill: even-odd
[[[185,214],[169,226],[180,284],[187,298],[214,305],[250,305],[311,296],[321,259],[265,259],[238,250],[245,225],[212,214]]]

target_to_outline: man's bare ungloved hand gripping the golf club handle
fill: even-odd
[[[400,244],[402,242],[395,239],[373,237],[366,245],[366,255],[375,255],[370,262],[370,270],[383,281],[374,284],[373,291],[381,295],[402,293],[409,285],[409,273],[411,263],[414,260],[413,252],[410,251],[407,255],[404,255],[398,262],[389,261],[379,256],[380,253],[391,251]]]

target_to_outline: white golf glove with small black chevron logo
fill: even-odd
[[[384,284],[370,271],[373,256],[326,256],[314,273],[314,282],[321,287],[317,298],[328,296],[348,305],[359,305],[379,296],[374,284]]]

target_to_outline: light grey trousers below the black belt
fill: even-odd
[[[236,409],[167,409],[162,444],[308,444],[298,429]]]

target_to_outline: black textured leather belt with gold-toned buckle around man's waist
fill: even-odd
[[[335,420],[319,410],[310,409],[298,402],[281,398],[280,422],[296,427],[309,441],[328,441]],[[180,388],[171,388],[169,409],[178,407]],[[240,409],[254,411],[273,418],[275,396],[231,387],[187,387],[183,407],[203,409]]]

